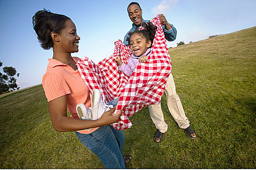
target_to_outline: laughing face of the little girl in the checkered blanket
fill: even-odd
[[[151,45],[151,41],[147,42],[146,38],[139,33],[134,33],[130,37],[130,49],[136,56],[144,54]]]

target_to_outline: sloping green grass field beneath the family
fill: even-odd
[[[198,139],[189,139],[162,109],[161,143],[148,108],[124,130],[129,169],[256,168],[256,27],[170,50],[176,91]],[[56,132],[41,85],[0,97],[1,169],[97,169],[99,158],[75,133]]]

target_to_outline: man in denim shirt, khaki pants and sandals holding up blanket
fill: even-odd
[[[130,20],[133,22],[132,28],[128,31],[128,33],[133,32],[138,27],[141,27],[143,22],[149,22],[149,20],[144,20],[142,18],[142,9],[139,3],[131,2],[128,5],[127,11]],[[163,25],[165,38],[168,41],[175,40],[177,34],[175,27],[167,22],[164,15],[161,14],[159,17]],[[128,46],[128,33],[125,35],[123,42],[126,46]],[[176,94],[172,74],[170,74],[169,79],[167,81],[165,95],[167,98],[167,105],[173,119],[177,122],[181,129],[185,130],[187,136],[189,136],[191,139],[196,139],[195,132],[192,130],[189,119],[186,117],[185,112],[183,110],[179,96]],[[159,103],[157,105],[149,105],[149,113],[152,121],[154,122],[157,128],[157,132],[154,135],[154,141],[158,143],[162,140],[163,135],[168,128],[168,125],[164,120],[161,104]]]

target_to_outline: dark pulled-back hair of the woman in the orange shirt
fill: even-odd
[[[65,22],[70,18],[43,9],[42,11],[36,12],[32,19],[33,28],[37,33],[37,38],[41,43],[41,47],[44,50],[49,50],[53,47],[51,32],[60,34],[65,28]]]

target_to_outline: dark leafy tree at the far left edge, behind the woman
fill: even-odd
[[[0,67],[1,66],[2,62],[0,62]],[[20,87],[18,87],[16,83],[17,80],[14,76],[17,75],[17,77],[19,77],[20,73],[17,73],[16,69],[13,67],[4,67],[2,70],[6,74],[0,72],[0,94],[18,90]]]

